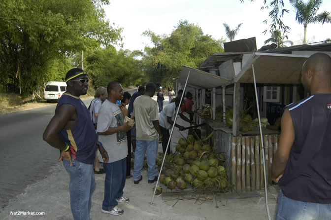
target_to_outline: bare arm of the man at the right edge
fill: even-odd
[[[278,180],[280,179],[286,168],[286,164],[289,159],[290,150],[294,140],[295,131],[291,114],[290,111],[286,109],[281,119],[281,133],[278,149],[272,162],[271,179],[275,183],[278,183]]]

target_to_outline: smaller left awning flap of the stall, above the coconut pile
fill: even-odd
[[[182,70],[179,74],[178,81],[185,83],[188,73],[190,72],[190,77],[187,84],[194,88],[215,88],[219,86],[224,86],[232,83],[232,80],[207,73],[196,68],[188,67],[183,65]]]

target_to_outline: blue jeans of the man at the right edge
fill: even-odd
[[[331,204],[301,202],[279,193],[275,220],[327,220],[331,219]]]

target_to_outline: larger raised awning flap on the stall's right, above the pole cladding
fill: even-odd
[[[299,84],[301,83],[301,67],[308,57],[254,52],[234,81],[254,82],[252,70],[252,64],[254,64],[257,83]]]

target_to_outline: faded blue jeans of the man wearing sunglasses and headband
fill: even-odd
[[[93,164],[85,164],[71,158],[63,159],[63,166],[70,176],[70,207],[74,220],[90,220],[92,193],[96,188]]]

